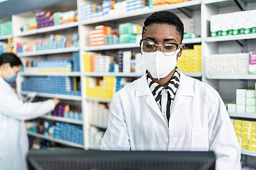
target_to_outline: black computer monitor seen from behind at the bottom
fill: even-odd
[[[213,152],[32,150],[29,170],[212,170]]]

